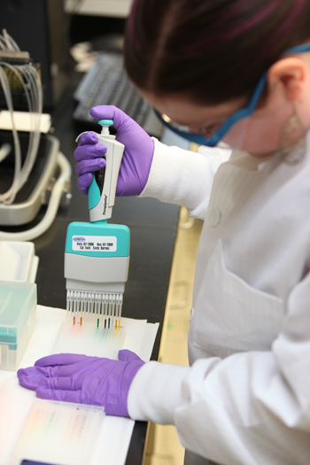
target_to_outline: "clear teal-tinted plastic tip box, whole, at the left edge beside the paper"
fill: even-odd
[[[0,369],[15,371],[35,329],[36,285],[0,281]]]

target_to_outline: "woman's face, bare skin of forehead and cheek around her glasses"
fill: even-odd
[[[178,124],[188,126],[190,132],[205,136],[211,136],[214,129],[221,126],[232,113],[247,105],[245,100],[239,99],[221,105],[203,106],[180,94],[157,97],[141,93],[160,113]],[[283,98],[281,92],[275,92],[250,118],[237,121],[224,136],[223,142],[257,157],[270,155],[278,149],[281,129],[291,113],[291,102]]]

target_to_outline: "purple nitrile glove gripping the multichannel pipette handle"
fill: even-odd
[[[154,153],[154,141],[136,121],[112,105],[94,106],[90,114],[96,120],[113,120],[117,130],[116,140],[125,145],[116,186],[116,196],[138,196],[149,178]],[[106,147],[98,143],[94,132],[81,135],[74,157],[78,160],[76,173],[80,176],[78,187],[83,194],[88,192],[93,171],[103,167]]]

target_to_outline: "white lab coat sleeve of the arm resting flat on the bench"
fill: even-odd
[[[287,301],[270,352],[146,364],[129,390],[133,418],[173,422],[183,446],[223,465],[310,463],[310,274]],[[169,410],[170,406],[170,410]]]

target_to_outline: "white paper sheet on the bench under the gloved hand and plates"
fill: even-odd
[[[50,354],[65,319],[64,310],[37,306],[35,331],[19,368],[30,367],[38,358]],[[122,348],[137,353],[145,361],[150,360],[159,323],[122,318],[121,324],[126,330]],[[14,444],[34,399],[34,391],[19,386],[16,372],[0,371],[0,465],[9,465]],[[91,465],[123,465],[134,424],[128,418],[105,416]]]

